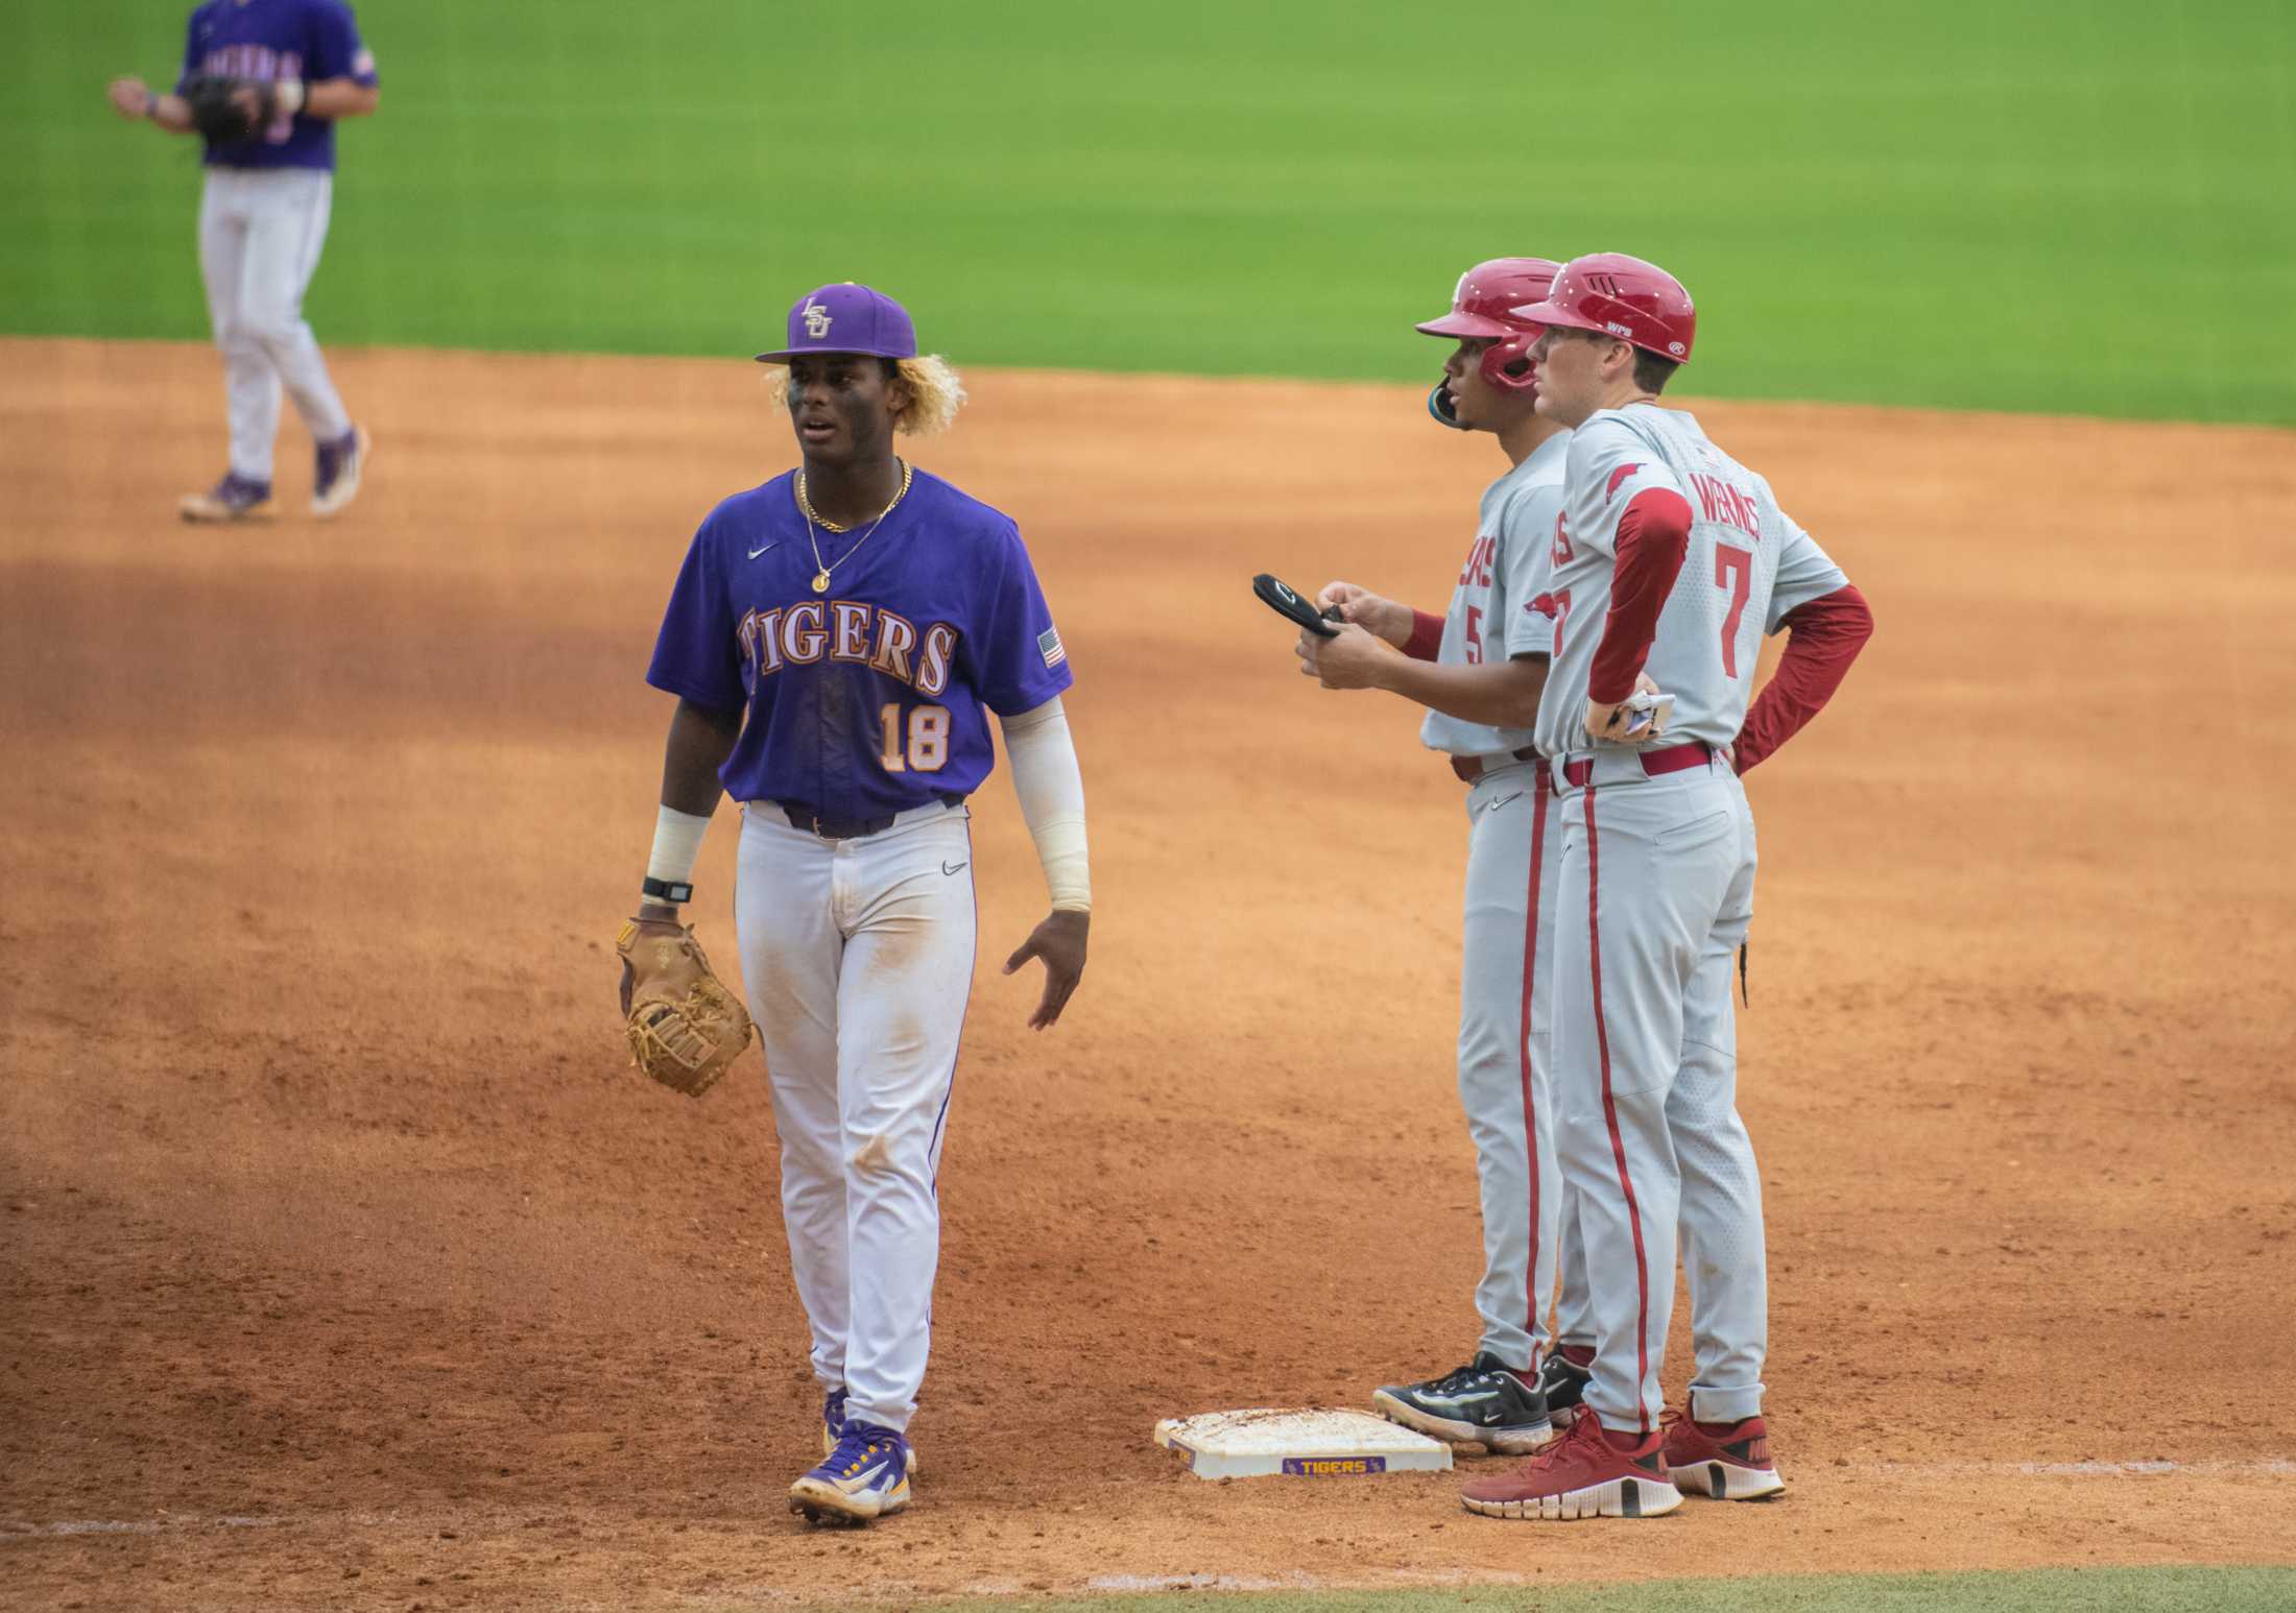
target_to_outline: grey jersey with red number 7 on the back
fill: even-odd
[[[1619,516],[1651,489],[1690,505],[1690,548],[1642,668],[1674,695],[1667,739],[1733,743],[1761,638],[1795,606],[1848,585],[1777,507],[1770,484],[1708,443],[1692,415],[1658,404],[1591,415],[1570,434],[1564,519],[1552,532],[1554,665],[1538,702],[1548,755],[1591,748],[1587,679],[1609,617]]]

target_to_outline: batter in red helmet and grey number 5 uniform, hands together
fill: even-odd
[[[1467,785],[1467,909],[1460,950],[1458,1097],[1474,1140],[1483,1209],[1483,1338],[1467,1365],[1389,1384],[1387,1418],[1465,1455],[1527,1455],[1552,1436],[1538,1388],[1561,1182],[1548,1092],[1550,993],[1561,817],[1534,743],[1554,624],[1548,548],[1564,498],[1570,431],[1534,408],[1541,328],[1520,310],[1545,298],[1557,264],[1499,257],[1458,280],[1451,312],[1417,326],[1458,346],[1428,413],[1497,436],[1508,470],[1483,505],[1446,615],[1329,583],[1336,638],[1300,636],[1302,672],[1325,688],[1387,688],[1424,704],[1419,739]],[[1384,640],[1384,642],[1380,642]],[[1394,649],[1403,654],[1394,654]]]

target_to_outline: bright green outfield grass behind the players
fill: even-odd
[[[186,5],[21,0],[0,326],[204,335]],[[1405,379],[1492,252],[1690,285],[1688,390],[2296,424],[2287,0],[372,0],[328,342]]]

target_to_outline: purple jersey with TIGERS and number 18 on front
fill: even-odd
[[[810,528],[824,594],[794,473],[693,535],[645,681],[746,709],[719,769],[735,801],[868,819],[969,796],[996,766],[983,707],[1015,716],[1075,681],[1010,516],[918,470],[863,530]]]

